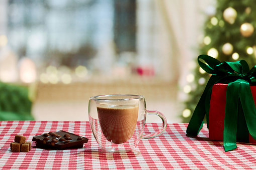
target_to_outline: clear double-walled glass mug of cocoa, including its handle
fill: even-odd
[[[162,119],[162,127],[153,134],[142,135],[146,115]],[[155,110],[146,110],[144,96],[102,95],[89,100],[89,120],[96,141],[105,152],[130,152],[140,139],[150,139],[162,134],[167,121]]]

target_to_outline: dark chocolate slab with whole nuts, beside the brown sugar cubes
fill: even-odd
[[[83,143],[88,142],[88,138],[86,137],[63,130],[33,136],[32,140],[35,141],[36,145],[39,147],[45,146],[55,149],[82,148]]]

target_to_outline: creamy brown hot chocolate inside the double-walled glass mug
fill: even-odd
[[[98,106],[98,116],[102,132],[112,143],[128,141],[136,128],[138,106],[135,107],[102,107]]]

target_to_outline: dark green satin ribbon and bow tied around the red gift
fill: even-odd
[[[250,90],[250,84],[256,84],[256,66],[249,70],[244,60],[221,63],[207,55],[200,55],[198,63],[212,76],[191,117],[187,135],[198,135],[205,115],[208,127],[212,86],[216,83],[225,83],[228,84],[223,131],[225,151],[235,149],[236,141],[248,141],[248,133],[256,139],[256,108]]]

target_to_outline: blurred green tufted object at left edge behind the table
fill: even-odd
[[[0,82],[0,121],[34,120],[28,87]]]

